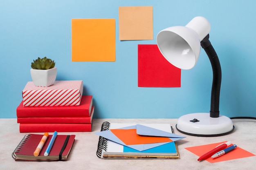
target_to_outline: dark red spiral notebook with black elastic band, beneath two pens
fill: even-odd
[[[45,150],[52,138],[52,135],[47,137],[45,144],[38,156],[34,156],[40,140],[43,135],[27,134],[25,135],[16,149],[12,153],[15,161],[64,161],[67,160],[68,155],[74,144],[75,135],[57,135],[52,149],[48,156],[44,156]]]

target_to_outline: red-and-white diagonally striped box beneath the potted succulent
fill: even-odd
[[[55,81],[52,86],[38,87],[27,82],[22,91],[23,106],[79,106],[83,81]]]

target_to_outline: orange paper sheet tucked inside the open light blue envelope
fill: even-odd
[[[136,129],[110,129],[110,130],[126,145],[172,142],[172,140],[169,139],[168,137],[140,136],[136,133]]]

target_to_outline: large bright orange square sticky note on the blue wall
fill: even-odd
[[[72,19],[72,62],[115,62],[115,19]]]

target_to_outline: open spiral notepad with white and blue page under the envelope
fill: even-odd
[[[124,128],[132,126],[135,124],[117,124],[103,122],[101,126],[101,131],[114,129],[114,128]],[[156,124],[154,124],[156,125]],[[160,124],[159,124],[160,125]],[[163,124],[161,124],[162,126]],[[167,130],[171,131],[171,126],[165,124]],[[148,124],[150,126],[150,124]],[[172,131],[171,131],[172,132]],[[179,153],[177,150],[177,145],[175,142],[170,142],[155,148],[151,148],[144,151],[138,151],[121,144],[117,144],[110,141],[104,137],[99,137],[98,149],[96,153],[97,157],[101,159],[178,159]]]

